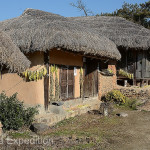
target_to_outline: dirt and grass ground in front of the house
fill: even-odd
[[[116,116],[125,112],[128,117]],[[30,133],[13,138],[31,138]],[[11,137],[11,134],[9,135]],[[112,116],[83,114],[64,120],[40,138],[52,140],[47,145],[1,145],[14,150],[150,150],[150,112],[115,109]]]

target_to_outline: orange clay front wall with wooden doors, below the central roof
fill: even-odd
[[[18,99],[23,100],[26,105],[40,104],[48,109],[50,102],[60,100],[92,97],[100,99],[102,95],[116,86],[116,60],[110,59],[104,67],[101,65],[104,59],[101,60],[99,57],[93,59],[57,49],[49,51],[48,57],[48,73],[39,80],[26,81],[25,77],[18,73],[7,73],[3,70],[0,79],[0,91],[5,91],[8,96],[17,92]],[[40,71],[47,68],[43,52],[29,53],[27,58],[31,61],[31,66],[27,70]],[[86,61],[88,61],[87,66]],[[89,65],[90,62],[91,66]],[[57,72],[56,70],[51,71],[54,66],[57,67]],[[107,68],[113,70],[114,74],[104,75],[101,73],[100,70]],[[83,73],[81,73],[82,70]],[[56,79],[58,80],[57,83]],[[83,86],[81,86],[81,82],[83,82]],[[56,94],[57,92],[58,94]]]

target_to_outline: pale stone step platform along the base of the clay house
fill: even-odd
[[[53,126],[64,119],[87,113],[90,110],[99,109],[100,103],[101,101],[98,100],[98,97],[95,97],[85,100],[69,100],[61,106],[50,105],[47,113],[36,116],[36,122]]]

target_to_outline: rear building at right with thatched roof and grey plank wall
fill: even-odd
[[[118,47],[122,59],[118,69],[134,74],[134,84],[150,80],[150,30],[121,17],[89,16],[68,18],[106,36]]]

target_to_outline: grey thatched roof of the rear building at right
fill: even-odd
[[[117,46],[143,50],[150,48],[150,30],[124,18],[88,16],[68,19],[81,23],[85,27],[95,29],[99,35],[108,37]]]

